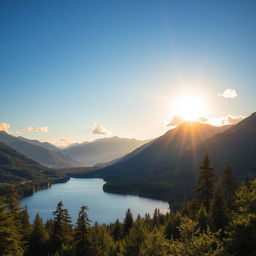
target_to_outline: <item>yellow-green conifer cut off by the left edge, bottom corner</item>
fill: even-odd
[[[4,200],[0,198],[0,256],[22,256],[21,235],[8,212]]]

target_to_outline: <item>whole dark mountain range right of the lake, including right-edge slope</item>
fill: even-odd
[[[184,122],[113,165],[85,176],[104,178],[108,192],[172,202],[193,191],[198,167],[207,153],[216,175],[227,164],[238,179],[256,175],[256,113],[232,127]]]

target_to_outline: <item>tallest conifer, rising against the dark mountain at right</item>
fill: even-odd
[[[199,167],[199,188],[196,190],[198,193],[197,200],[199,204],[203,204],[206,211],[208,212],[210,209],[210,203],[213,196],[214,191],[214,168],[210,166],[210,158],[207,154],[203,160],[202,165]]]

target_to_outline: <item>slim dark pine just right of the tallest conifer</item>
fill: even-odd
[[[226,168],[224,169],[222,178],[222,190],[226,208],[229,211],[234,210],[236,179],[232,173],[230,165],[226,166]]]

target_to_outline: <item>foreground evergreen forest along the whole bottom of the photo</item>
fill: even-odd
[[[91,223],[81,206],[75,225],[62,202],[52,219],[33,223],[15,188],[0,198],[2,256],[255,256],[256,179],[236,181],[227,165],[217,176],[210,157],[199,167],[191,200],[179,210]]]

